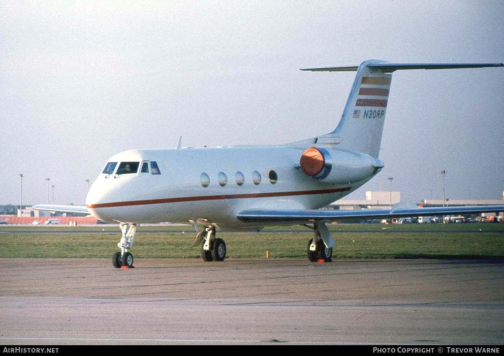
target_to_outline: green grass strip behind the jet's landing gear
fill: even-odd
[[[333,258],[504,258],[501,224],[333,224]],[[259,233],[218,232],[228,258],[305,258],[313,232],[305,227],[267,228]],[[199,258],[189,248],[193,226],[137,229],[135,258]],[[110,258],[118,251],[114,225],[0,226],[0,258]]]

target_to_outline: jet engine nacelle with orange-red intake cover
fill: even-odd
[[[310,147],[296,168],[307,176],[332,184],[352,184],[379,172],[384,163],[363,153]]]

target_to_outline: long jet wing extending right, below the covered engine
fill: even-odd
[[[250,223],[306,224],[311,221],[351,221],[424,216],[467,215],[504,211],[504,205],[450,206],[450,207],[396,207],[392,209],[362,210],[271,210],[247,209],[238,213],[238,220]]]

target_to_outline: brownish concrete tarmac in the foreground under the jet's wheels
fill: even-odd
[[[504,261],[0,259],[0,344],[502,344]]]

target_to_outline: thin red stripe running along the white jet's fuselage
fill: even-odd
[[[228,194],[228,195],[202,195],[202,196],[187,196],[179,198],[165,199],[150,199],[150,200],[132,200],[132,201],[117,201],[112,203],[97,203],[86,205],[90,209],[100,207],[117,207],[117,206],[134,206],[134,205],[150,205],[150,204],[166,204],[179,203],[184,201],[204,201],[204,200],[224,200],[224,199],[245,199],[245,198],[268,198],[278,196],[295,196],[295,195],[311,195],[311,194],[330,194],[339,193],[350,190],[351,187],[322,189],[322,190],[301,190],[290,192],[274,192],[274,193],[251,193],[251,194]]]

